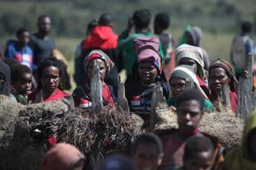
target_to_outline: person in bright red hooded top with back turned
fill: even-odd
[[[101,50],[106,53],[115,65],[119,66],[119,61],[116,57],[116,47],[118,35],[116,35],[112,30],[113,22],[112,17],[108,13],[103,13],[98,21],[98,25],[95,26],[88,37],[85,39],[83,44],[82,58],[91,50]],[[117,67],[114,67],[108,74],[106,74],[105,82],[111,86],[111,91],[117,96]],[[83,69],[83,68],[81,68]],[[86,75],[85,72],[83,72]],[[83,76],[84,77],[84,76]],[[84,83],[82,83],[84,85]]]

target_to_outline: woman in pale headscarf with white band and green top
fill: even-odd
[[[188,89],[195,88],[205,98],[205,111],[209,111],[213,108],[212,103],[208,100],[207,95],[199,85],[195,72],[193,71],[193,67],[187,65],[176,67],[171,74],[169,83],[171,88],[171,98],[167,100],[167,104],[169,106],[176,106],[178,96]]]

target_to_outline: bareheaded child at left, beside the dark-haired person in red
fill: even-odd
[[[32,71],[25,65],[14,67],[11,73],[12,85],[15,89],[14,96],[17,102],[29,104],[28,95],[32,89]]]

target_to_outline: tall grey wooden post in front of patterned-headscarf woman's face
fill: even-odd
[[[96,61],[93,64],[93,79],[91,80],[91,103],[93,113],[100,113],[103,107],[102,82],[100,80],[100,68]]]

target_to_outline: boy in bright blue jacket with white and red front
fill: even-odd
[[[4,55],[6,58],[14,58],[20,64],[32,69],[33,51],[29,47],[30,32],[27,28],[19,28],[16,32],[17,40],[8,40]]]

